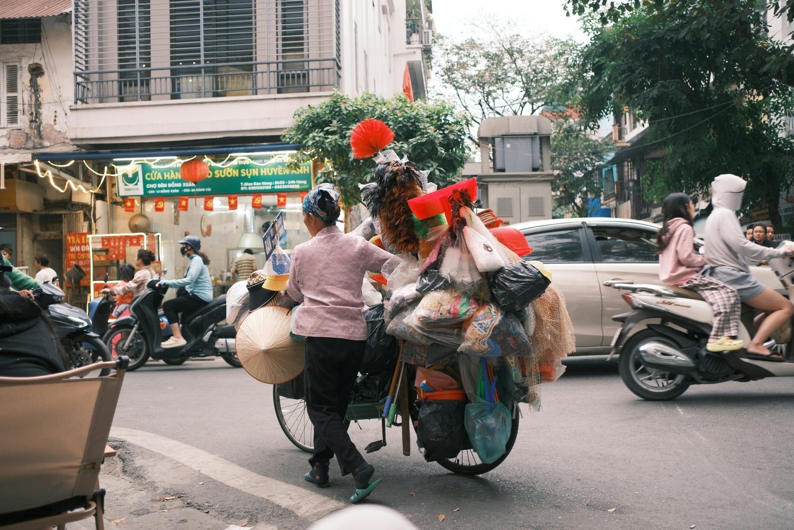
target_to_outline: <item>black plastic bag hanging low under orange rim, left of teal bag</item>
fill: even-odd
[[[455,458],[468,443],[464,426],[466,404],[456,400],[424,400],[419,409],[416,436],[425,448],[425,460]]]

